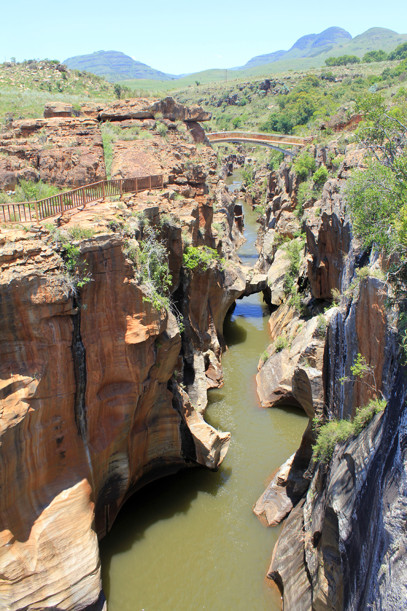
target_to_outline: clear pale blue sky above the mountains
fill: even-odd
[[[0,58],[64,60],[115,49],[173,74],[228,68],[330,26],[353,37],[375,26],[406,33],[405,0],[388,6],[381,0],[15,0],[2,5]]]

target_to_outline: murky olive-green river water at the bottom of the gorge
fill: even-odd
[[[239,175],[229,179],[239,185]],[[243,202],[243,263],[256,261],[259,225]],[[109,611],[277,611],[279,593],[264,579],[279,528],[252,510],[270,473],[300,444],[297,409],[261,409],[254,375],[268,345],[262,296],[237,301],[225,321],[225,385],[211,390],[206,419],[231,431],[217,473],[185,469],[136,492],[101,541]]]

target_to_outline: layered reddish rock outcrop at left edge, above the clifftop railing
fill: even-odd
[[[103,142],[93,119],[24,119],[0,132],[0,189],[21,178],[76,188],[106,180]]]

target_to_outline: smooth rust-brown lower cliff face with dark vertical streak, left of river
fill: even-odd
[[[2,599],[15,611],[102,607],[97,538],[124,500],[181,467],[216,468],[229,434],[207,425],[171,377],[178,326],[143,301],[121,236],[79,244],[92,282],[75,298],[47,232],[34,235],[15,232],[0,260]],[[191,324],[211,349],[245,288],[236,277],[223,291],[224,278],[207,271],[204,309],[191,290],[200,277],[188,289]]]

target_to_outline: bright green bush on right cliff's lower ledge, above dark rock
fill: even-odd
[[[384,400],[371,400],[367,405],[356,410],[353,420],[331,420],[322,425],[318,431],[317,441],[312,446],[314,460],[328,463],[334,453],[335,445],[351,436],[357,437],[375,414],[384,411],[386,404]],[[318,420],[315,425],[318,426]]]

